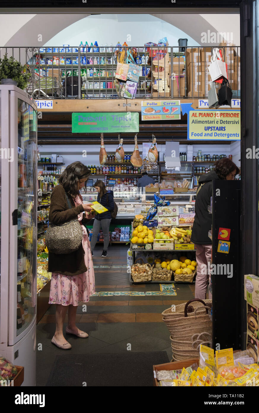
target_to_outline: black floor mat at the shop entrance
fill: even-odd
[[[168,363],[166,351],[57,356],[46,386],[153,386],[153,365]]]

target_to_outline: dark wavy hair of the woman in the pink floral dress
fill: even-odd
[[[68,165],[61,174],[59,183],[63,186],[69,197],[75,198],[79,193],[78,183],[80,179],[88,178],[90,174],[91,172],[82,162],[73,162],[73,164]]]

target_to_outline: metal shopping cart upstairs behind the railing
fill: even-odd
[[[31,74],[27,92],[33,97],[62,97],[63,85],[56,77],[46,76],[46,72],[40,74],[33,66],[28,65]]]

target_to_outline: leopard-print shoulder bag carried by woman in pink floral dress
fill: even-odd
[[[71,209],[71,203],[66,194],[68,208]],[[45,236],[45,242],[49,252],[54,254],[71,254],[77,251],[82,244],[82,227],[78,218],[64,222],[61,225],[50,223]]]

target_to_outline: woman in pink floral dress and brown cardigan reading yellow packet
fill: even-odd
[[[49,252],[48,271],[52,273],[49,304],[56,304],[56,331],[52,343],[60,349],[71,349],[63,335],[63,324],[68,309],[67,334],[86,338],[88,334],[75,325],[79,301],[89,301],[95,292],[94,268],[89,238],[85,224],[94,217],[92,204],[84,204],[80,189],[85,185],[90,172],[81,162],[68,165],[51,194],[49,221],[61,225],[78,218],[82,226],[82,244],[71,254]],[[85,214],[84,214],[85,213]]]

